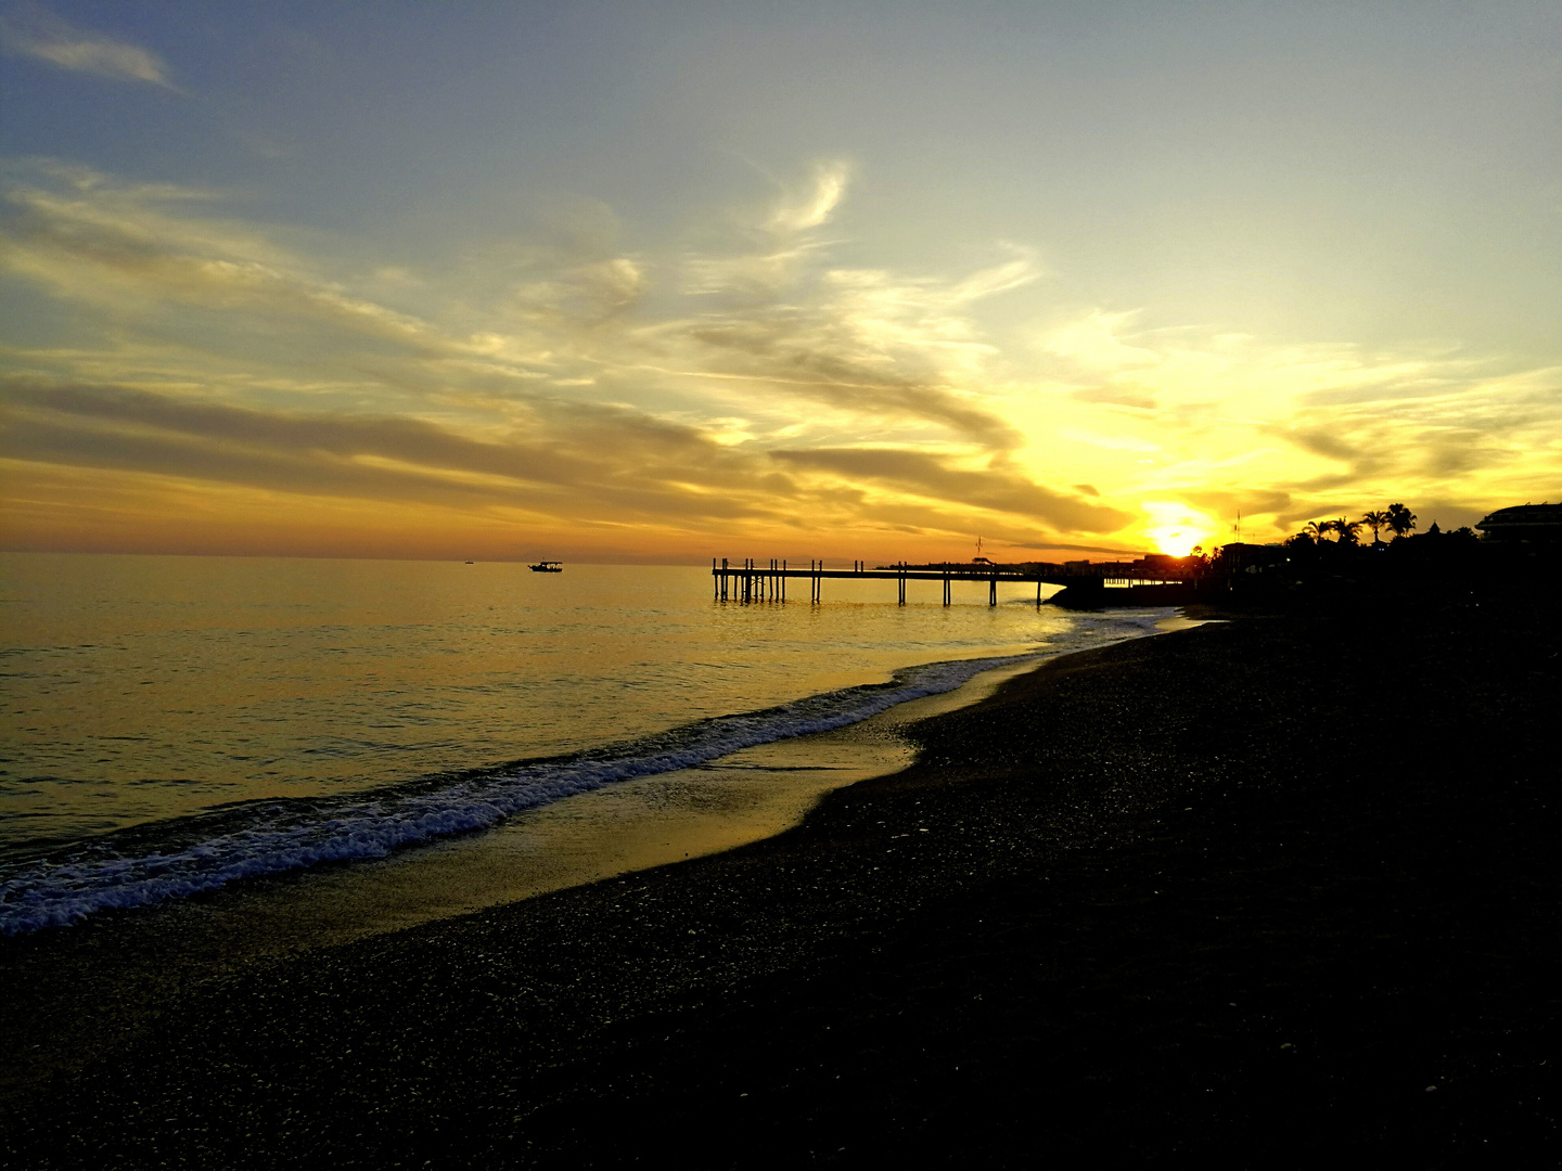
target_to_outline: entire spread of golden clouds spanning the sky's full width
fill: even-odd
[[[986,314],[1043,300],[1023,292],[1047,287],[1036,251],[943,275],[842,264],[825,233],[845,167],[698,248],[625,247],[587,206],[445,270],[289,247],[220,192],[6,175],[0,270],[72,339],[0,350],[0,459],[33,501],[11,528],[50,532],[67,500],[109,517],[92,484],[162,501],[83,545],[177,507],[208,534],[245,509],[351,514],[342,532],[422,517],[428,548],[473,526],[684,554],[731,534],[809,554],[948,556],[978,531],[1131,548],[1173,515],[1242,509],[1245,532],[1279,536],[1385,493],[1540,498],[1562,465],[1557,370],[1089,306],[1004,336]]]

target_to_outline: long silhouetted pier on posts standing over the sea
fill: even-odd
[[[1042,604],[1042,586],[1064,586],[1078,589],[1079,593],[1093,593],[1109,586],[1173,586],[1187,587],[1193,582],[1193,568],[1184,557],[1168,557],[1162,554],[1147,554],[1136,561],[1067,561],[1067,562],[1022,562],[1000,565],[997,562],[936,562],[912,565],[895,562],[890,565],[867,567],[864,561],[853,561],[851,568],[826,570],[823,559],[811,559],[808,568],[792,567],[786,561],[772,557],[761,565],[753,557],[733,564],[726,557],[711,559],[712,596],[715,601],[734,601],[740,604],[784,603],[787,600],[787,582],[806,578],[809,584],[808,600],[811,604],[823,601],[825,581],[829,579],[872,579],[893,581],[898,590],[898,601],[906,604],[908,581],[937,581],[943,584],[943,604],[951,601],[951,589],[958,581],[982,582],[987,586],[987,604],[998,604],[998,582],[1017,582],[1036,586],[1036,604]]]

